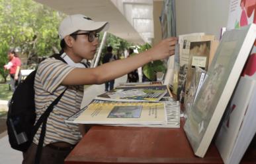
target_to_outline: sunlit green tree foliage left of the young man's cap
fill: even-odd
[[[0,0],[0,73],[7,49],[20,47],[21,55],[47,56],[59,48],[58,25],[64,14],[32,0]]]

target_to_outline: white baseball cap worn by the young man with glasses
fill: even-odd
[[[73,14],[65,17],[60,23],[59,37],[62,40],[77,30],[101,32],[108,30],[108,27],[108,22],[95,22],[83,14]]]

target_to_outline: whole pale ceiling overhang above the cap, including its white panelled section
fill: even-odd
[[[151,43],[153,0],[34,0],[65,14],[110,22],[108,32],[132,43]]]

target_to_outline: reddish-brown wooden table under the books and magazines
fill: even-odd
[[[246,163],[255,163],[255,152],[249,156]],[[183,128],[93,126],[65,159],[71,163],[223,162],[214,144],[204,158],[194,156]]]

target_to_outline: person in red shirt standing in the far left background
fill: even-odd
[[[15,89],[21,82],[21,59],[19,59],[15,49],[10,49],[7,53],[9,63],[4,65],[6,70],[9,70],[11,77],[11,90],[15,92]]]

